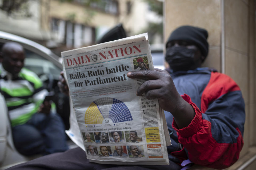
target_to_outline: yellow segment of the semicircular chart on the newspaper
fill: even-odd
[[[91,103],[85,112],[85,124],[102,124],[104,120],[96,104]]]

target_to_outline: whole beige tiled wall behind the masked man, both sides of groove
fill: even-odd
[[[164,6],[165,41],[171,31],[180,25],[206,28],[210,49],[203,66],[223,71],[241,88],[246,105],[246,122],[240,156],[246,155],[249,147],[256,145],[255,3],[255,0],[165,0]],[[221,10],[222,5],[224,11]],[[224,25],[221,24],[222,19]],[[224,63],[221,62],[222,43]],[[221,70],[222,66],[224,70]]]

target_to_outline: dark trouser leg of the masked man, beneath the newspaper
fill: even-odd
[[[89,170],[89,169],[105,169],[105,170],[149,170],[149,169],[170,169],[179,170],[181,167],[174,162],[170,162],[170,165],[110,165],[110,164],[97,164],[91,163],[86,158],[85,151],[81,148],[74,148],[62,153],[55,153],[43,156],[38,159],[31,160],[29,162],[16,165],[8,170]]]

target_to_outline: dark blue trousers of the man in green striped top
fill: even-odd
[[[68,149],[64,130],[58,114],[35,113],[26,124],[12,128],[14,146],[26,156],[63,152]]]

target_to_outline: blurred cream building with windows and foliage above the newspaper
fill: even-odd
[[[36,41],[59,56],[94,45],[119,23],[127,36],[149,32],[151,43],[163,42],[158,0],[0,0],[0,18],[1,31]]]

